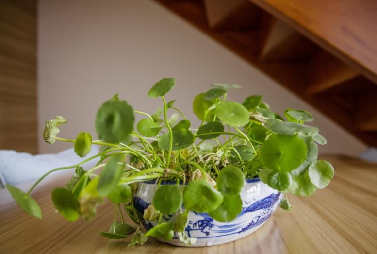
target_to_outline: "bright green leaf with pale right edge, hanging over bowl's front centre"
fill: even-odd
[[[192,180],[183,190],[185,209],[207,213],[223,202],[223,195],[203,179]]]

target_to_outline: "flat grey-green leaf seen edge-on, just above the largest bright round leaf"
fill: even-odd
[[[297,122],[268,121],[271,131],[277,134],[311,136],[318,133],[318,128]]]

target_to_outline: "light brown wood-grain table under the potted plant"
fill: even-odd
[[[311,197],[290,195],[291,211],[278,211],[251,235],[234,242],[198,248],[175,247],[149,239],[144,246],[128,247],[130,238],[108,240],[113,205],[98,208],[86,222],[67,222],[55,213],[50,200],[53,186],[37,189],[43,220],[23,213],[0,190],[0,253],[377,253],[377,165],[344,156],[324,156],[335,168],[335,178]],[[128,220],[131,223],[131,220]]]

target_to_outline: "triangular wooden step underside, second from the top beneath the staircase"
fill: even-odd
[[[279,19],[275,19],[262,47],[262,61],[305,61],[318,47]]]

